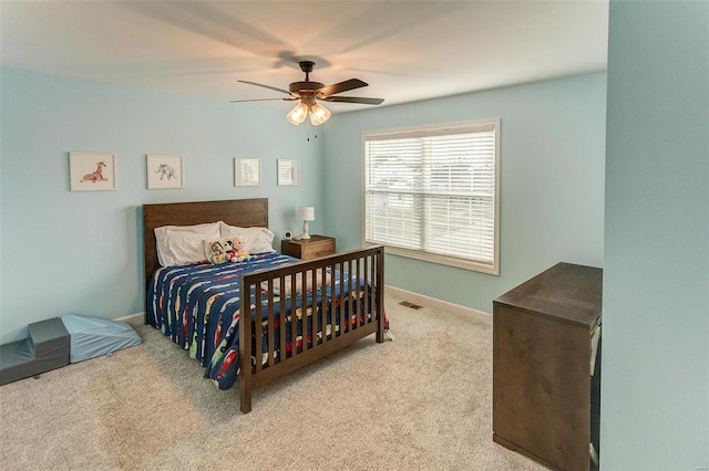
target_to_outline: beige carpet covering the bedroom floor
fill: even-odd
[[[430,307],[254,393],[167,337],[0,387],[0,469],[537,470],[492,441],[492,328]]]

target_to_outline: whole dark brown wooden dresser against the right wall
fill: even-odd
[[[558,263],[493,302],[495,442],[597,469],[602,293],[602,269]]]

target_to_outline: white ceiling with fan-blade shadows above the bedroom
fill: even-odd
[[[312,60],[384,106],[603,71],[608,0],[2,0],[0,27],[3,66],[230,101],[284,97],[237,80],[287,88]]]

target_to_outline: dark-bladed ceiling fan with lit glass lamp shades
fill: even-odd
[[[348,92],[354,88],[361,88],[362,86],[367,86],[367,82],[362,82],[359,78],[350,78],[345,82],[335,83],[332,85],[325,85],[320,82],[310,82],[310,72],[315,66],[315,62],[312,61],[300,61],[298,62],[300,65],[300,70],[305,72],[306,80],[304,82],[294,82],[288,86],[288,90],[277,88],[270,85],[264,85],[261,83],[248,82],[244,80],[239,80],[237,82],[246,83],[249,85],[256,85],[264,88],[275,90],[276,92],[281,92],[289,95],[287,98],[256,98],[256,100],[233,100],[232,103],[239,102],[264,102],[269,100],[284,100],[286,102],[292,102],[296,100],[300,100],[300,104],[292,108],[287,117],[288,121],[296,126],[302,123],[308,115],[310,116],[310,123],[314,126],[321,125],[326,121],[330,118],[330,111],[319,104],[317,101],[321,102],[340,102],[340,103],[358,103],[363,105],[379,105],[384,100],[383,98],[366,98],[360,96],[333,96],[342,92]]]

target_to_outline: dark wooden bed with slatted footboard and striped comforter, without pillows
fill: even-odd
[[[382,247],[308,262],[274,252],[161,266],[156,228],[216,221],[267,228],[268,199],[143,206],[145,322],[189,349],[219,388],[238,380],[242,412],[254,389],[371,334],[383,342]]]

